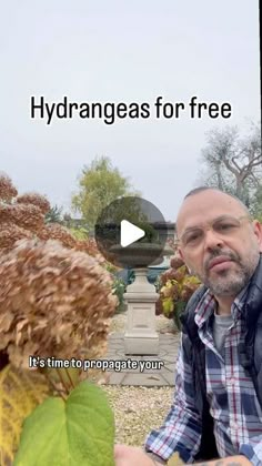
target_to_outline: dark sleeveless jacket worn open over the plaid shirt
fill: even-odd
[[[192,361],[196,407],[202,413],[202,438],[195,459],[208,460],[219,456],[213,434],[213,419],[209,412],[205,386],[205,347],[198,334],[194,311],[206,287],[201,286],[191,297],[181,316],[183,346]],[[250,281],[244,304],[245,344],[239,345],[240,362],[250,373],[262,407],[262,254]]]

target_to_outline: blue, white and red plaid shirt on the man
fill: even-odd
[[[223,356],[214,347],[212,318],[216,303],[209,291],[195,308],[199,336],[205,345],[206,392],[220,457],[243,454],[253,465],[262,465],[262,409],[253,382],[240,364],[238,345],[243,338],[242,307],[245,287],[234,300],[233,324],[226,332]],[[192,368],[180,346],[175,396],[163,426],[152,430],[144,448],[168,460],[174,452],[192,463],[201,442],[201,416],[194,404]]]

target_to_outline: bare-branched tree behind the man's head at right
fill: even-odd
[[[200,183],[236,195],[252,209],[262,176],[261,130],[252,124],[245,138],[236,126],[212,130],[201,154]]]

